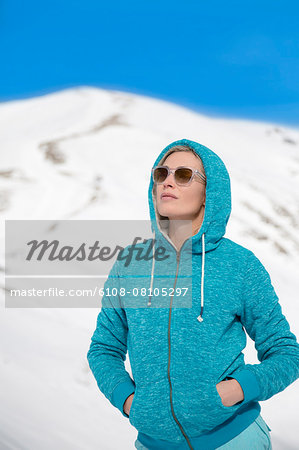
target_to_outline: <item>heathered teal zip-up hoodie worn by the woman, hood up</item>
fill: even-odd
[[[299,377],[299,344],[261,261],[224,237],[231,188],[219,156],[182,139],[164,148],[153,167],[179,144],[192,147],[205,169],[201,228],[177,251],[158,221],[151,178],[153,251],[159,245],[167,249],[167,263],[151,258],[125,267],[124,260],[115,262],[87,358],[100,391],[138,430],[145,447],[209,450],[241,433],[259,415],[260,401]],[[177,291],[162,296],[162,287],[170,292],[184,284],[191,293],[186,299]],[[158,288],[161,295],[132,296],[133,285]],[[113,287],[128,293],[112,296]],[[245,330],[259,364],[244,361]],[[133,379],[125,370],[127,352]],[[231,378],[239,382],[244,400],[227,407],[216,384]],[[132,393],[128,416],[123,406]]]

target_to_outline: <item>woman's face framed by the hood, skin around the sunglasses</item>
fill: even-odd
[[[164,166],[176,169],[178,166],[187,166],[203,173],[201,161],[192,152],[174,152],[163,162]],[[162,194],[170,193],[173,197],[161,197]],[[161,216],[172,220],[195,220],[204,214],[206,200],[206,186],[198,176],[187,186],[175,183],[174,175],[171,173],[162,184],[156,186],[157,210]]]

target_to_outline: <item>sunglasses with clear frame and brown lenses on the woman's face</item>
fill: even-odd
[[[190,184],[195,175],[206,182],[206,177],[199,170],[192,169],[191,167],[180,166],[171,170],[168,166],[157,166],[152,169],[153,180],[157,184],[164,183],[170,173],[174,174],[174,180],[180,186]]]

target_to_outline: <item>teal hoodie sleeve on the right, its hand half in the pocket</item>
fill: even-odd
[[[259,364],[246,364],[227,378],[244,393],[241,404],[262,401],[283,391],[299,377],[299,344],[282,313],[271,278],[250,252],[243,284],[241,323],[255,341]]]

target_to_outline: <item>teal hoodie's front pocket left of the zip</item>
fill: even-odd
[[[136,384],[129,421],[138,431],[157,439],[180,437],[171,416],[167,380]]]

